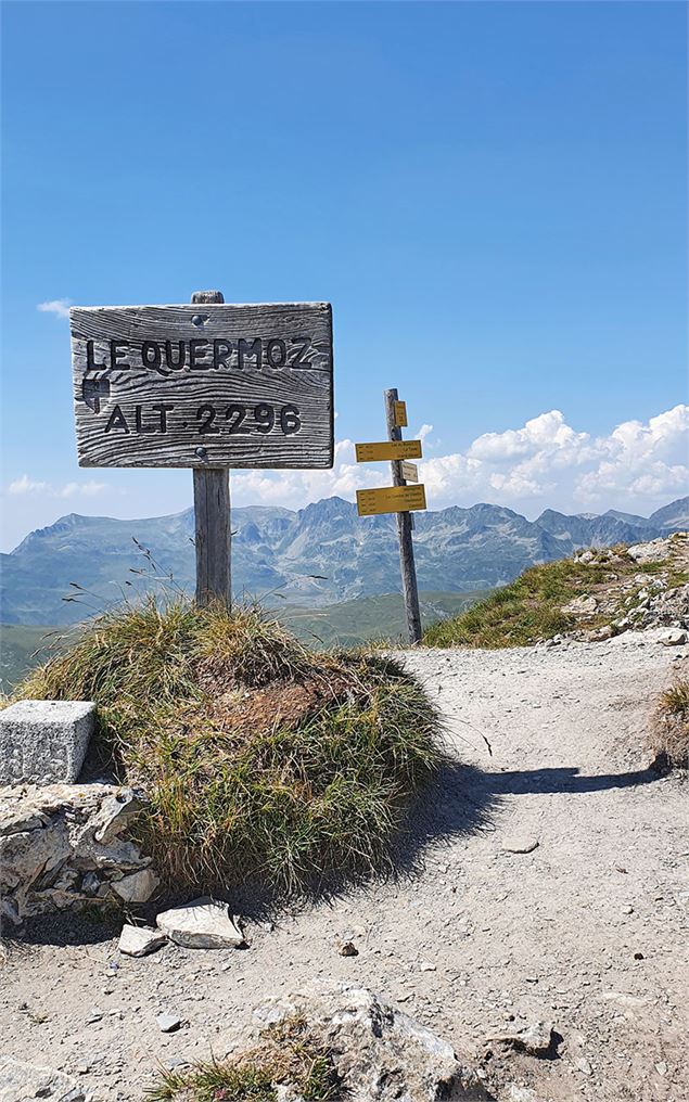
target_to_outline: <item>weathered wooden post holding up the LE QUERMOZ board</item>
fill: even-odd
[[[220,291],[196,291],[194,305],[225,302]],[[198,449],[201,451],[201,449]],[[196,604],[232,605],[229,467],[194,467]]]

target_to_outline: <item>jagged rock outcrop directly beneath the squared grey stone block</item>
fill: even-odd
[[[31,915],[91,903],[146,903],[159,880],[151,858],[123,836],[144,807],[117,785],[0,788],[1,914]]]

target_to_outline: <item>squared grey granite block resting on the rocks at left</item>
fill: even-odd
[[[96,723],[82,700],[20,700],[0,711],[0,785],[73,785]]]

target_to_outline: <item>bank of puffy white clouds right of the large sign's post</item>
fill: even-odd
[[[546,507],[566,512],[610,508],[653,512],[689,493],[689,406],[676,406],[648,422],[625,421],[606,436],[567,423],[560,410],[524,425],[477,436],[465,452],[421,461],[419,475],[430,508],[492,501],[535,515]],[[431,425],[417,439],[427,440]],[[356,464],[354,445],[336,445],[332,471],[233,474],[238,504],[262,501],[301,508],[308,501],[389,483],[387,466]]]

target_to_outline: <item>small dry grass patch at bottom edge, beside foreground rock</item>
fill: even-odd
[[[287,1087],[304,1102],[345,1098],[330,1052],[300,1017],[268,1028],[259,1046],[230,1061],[162,1071],[149,1098],[151,1102],[277,1102],[278,1087]]]

